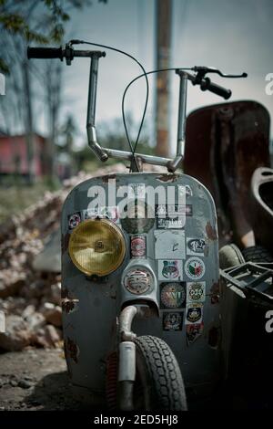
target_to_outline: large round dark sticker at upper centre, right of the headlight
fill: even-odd
[[[147,203],[136,200],[125,206],[125,213],[122,214],[120,222],[127,233],[143,234],[154,226],[155,216]]]

